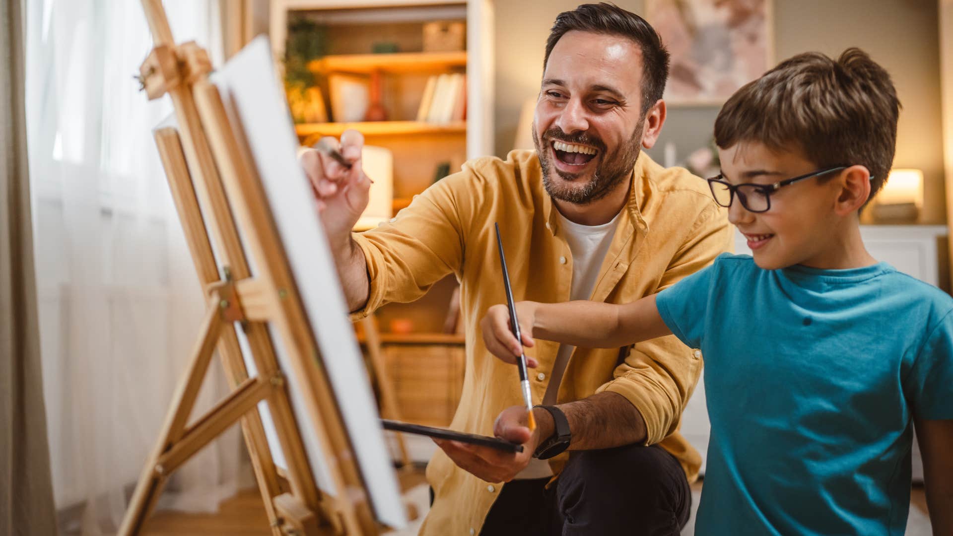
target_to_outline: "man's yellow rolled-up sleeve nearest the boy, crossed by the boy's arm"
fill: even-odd
[[[663,290],[710,265],[730,248],[733,227],[712,203],[700,213],[691,233],[659,280]],[[695,391],[701,358],[675,336],[635,344],[597,392],[612,391],[632,402],[645,422],[645,444],[659,443],[679,427],[681,411]]]

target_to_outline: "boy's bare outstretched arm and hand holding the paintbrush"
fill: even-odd
[[[536,338],[584,348],[619,348],[672,334],[659,316],[655,295],[622,305],[585,300],[519,301],[517,319],[526,346],[533,346]],[[522,346],[510,330],[509,309],[494,305],[482,324],[487,349],[503,361],[513,362]],[[530,361],[527,364],[536,365]]]

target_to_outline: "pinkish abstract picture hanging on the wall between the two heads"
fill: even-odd
[[[645,0],[672,54],[665,102],[720,105],[773,63],[772,0]]]

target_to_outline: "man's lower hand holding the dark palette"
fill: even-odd
[[[523,445],[522,452],[503,452],[490,446],[438,440],[443,452],[460,468],[486,482],[510,482],[530,463],[538,444],[553,435],[553,418],[544,409],[534,409],[537,429],[527,426],[526,406],[514,405],[502,411],[494,424],[497,438]]]

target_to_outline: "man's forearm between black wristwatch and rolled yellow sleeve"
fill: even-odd
[[[632,402],[618,393],[597,393],[558,407],[566,414],[573,434],[571,450],[612,448],[645,441],[642,415]]]

